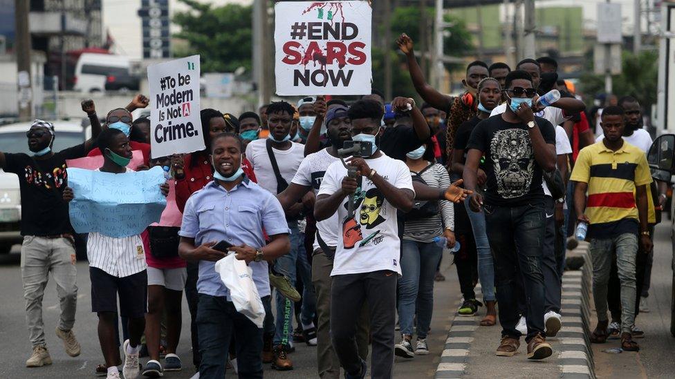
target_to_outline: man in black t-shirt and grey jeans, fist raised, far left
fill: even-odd
[[[82,108],[89,103],[83,101]],[[91,105],[93,110],[93,104]],[[56,334],[64,341],[69,356],[80,355],[80,343],[75,339],[75,307],[77,284],[75,271],[75,242],[73,227],[68,219],[68,204],[62,193],[68,184],[66,159],[84,157],[94,148],[94,139],[101,129],[92,125],[91,139],[84,144],[54,153],[57,137],[49,122],[35,120],[26,133],[28,149],[33,155],[0,152],[0,168],[19,176],[21,191],[21,279],[26,299],[26,323],[30,331],[33,354],[27,367],[50,365],[42,323],[42,296],[49,273],[52,273],[61,302],[61,315]]]

